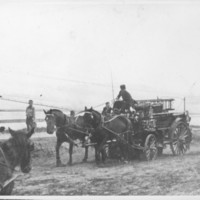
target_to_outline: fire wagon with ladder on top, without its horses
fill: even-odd
[[[174,99],[139,100],[134,114],[127,116],[132,122],[131,143],[127,141],[127,145],[131,149],[140,150],[148,161],[161,155],[167,145],[173,155],[184,154],[190,147],[192,133],[189,114],[175,113],[173,101]],[[114,103],[114,113],[120,114],[121,103]],[[108,156],[114,156],[116,145],[113,141],[107,142],[106,150]]]

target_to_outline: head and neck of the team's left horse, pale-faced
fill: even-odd
[[[56,127],[62,126],[65,124],[65,115],[60,110],[48,110],[45,111],[45,121],[47,123],[47,133],[53,134]]]

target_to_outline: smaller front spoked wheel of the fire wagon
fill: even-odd
[[[154,134],[149,134],[145,140],[144,156],[147,161],[155,160],[158,155],[157,141]]]

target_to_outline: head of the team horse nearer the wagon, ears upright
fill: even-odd
[[[98,111],[93,110],[92,107],[90,109],[85,107],[85,114],[83,115],[83,119],[88,126],[97,128],[101,123],[101,114]]]

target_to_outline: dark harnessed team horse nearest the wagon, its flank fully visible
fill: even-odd
[[[112,117],[103,117],[101,114],[92,108],[85,108],[84,121],[94,128],[91,141],[96,143],[96,162],[100,161],[100,153],[102,154],[102,162],[105,161],[106,155],[104,150],[108,140],[117,140],[122,157],[128,159],[128,143],[131,143],[131,122],[128,118],[115,115]]]

